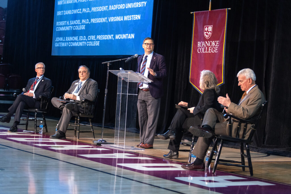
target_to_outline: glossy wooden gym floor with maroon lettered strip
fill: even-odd
[[[6,132],[13,118],[0,123],[0,193],[290,193],[289,157],[251,152],[253,177],[248,169],[224,165],[215,174],[189,171],[180,167],[189,152],[163,158],[168,140],[155,138],[154,149],[143,150],[97,146],[92,141],[101,138],[101,128],[93,127],[95,139],[84,133],[77,140],[67,131],[67,140],[52,141],[48,135],[55,133],[57,122],[47,119],[43,135],[23,132],[25,125],[17,133]],[[29,122],[28,130],[34,131],[33,125]],[[127,136],[125,145],[139,144],[139,134]],[[114,130],[104,129],[103,139],[113,143]],[[239,161],[239,150],[223,147],[221,159]]]

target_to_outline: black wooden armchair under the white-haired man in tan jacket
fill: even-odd
[[[208,160],[207,166],[205,166],[206,169],[210,165],[210,163],[212,161],[212,158],[213,158],[213,155],[215,154],[216,158],[215,158],[213,169],[212,169],[213,173],[215,172],[217,165],[221,164],[221,165],[227,165],[227,166],[242,167],[243,171],[245,171],[245,168],[249,168],[250,174],[251,174],[251,176],[253,176],[253,166],[252,166],[252,162],[251,162],[251,154],[250,154],[249,144],[251,144],[253,142],[252,141],[253,135],[254,135],[254,133],[255,133],[255,131],[257,129],[258,122],[259,122],[259,120],[261,118],[262,112],[264,111],[265,107],[267,106],[267,102],[268,101],[266,101],[266,102],[264,102],[262,104],[260,113],[259,113],[258,117],[255,118],[255,119],[244,120],[244,119],[238,118],[238,117],[236,117],[234,115],[231,115],[231,114],[225,114],[224,115],[224,118],[229,118],[228,119],[229,135],[228,136],[219,135],[219,134],[215,135],[214,145],[213,145],[213,148],[212,148],[212,150],[210,152],[210,156],[209,156],[209,160]],[[233,129],[232,124],[231,124],[231,118],[237,120],[237,122],[238,122],[238,126],[237,126],[237,129],[236,129],[235,137],[232,137],[232,131],[234,129]],[[241,129],[241,125],[242,124],[244,124],[244,128]],[[246,137],[246,129],[247,129],[248,125],[253,125],[253,126],[251,128],[251,132],[250,132],[249,136]],[[239,134],[240,134],[241,130],[243,130],[243,132],[242,132],[242,136],[240,138]],[[241,155],[241,161],[240,162],[233,161],[233,160],[222,160],[222,159],[219,159],[219,156],[221,154],[221,149],[222,149],[224,141],[240,143],[240,155]],[[218,143],[219,143],[219,148],[218,148],[218,151],[216,151],[215,148],[217,147]],[[244,154],[244,144],[245,144],[245,147],[246,147],[246,154]],[[248,165],[245,165],[244,158],[247,158]],[[239,163],[239,164],[236,164],[236,163]]]

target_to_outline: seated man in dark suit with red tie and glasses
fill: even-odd
[[[25,87],[26,92],[22,92],[15,99],[12,106],[8,108],[9,113],[0,117],[1,122],[10,122],[11,116],[15,113],[14,123],[8,132],[17,132],[17,125],[20,122],[23,109],[26,108],[40,108],[39,96],[48,98],[52,89],[52,81],[47,79],[43,74],[45,73],[45,64],[36,63],[35,65],[36,77],[28,80]]]

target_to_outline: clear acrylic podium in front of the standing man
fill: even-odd
[[[121,149],[142,149],[134,147],[136,136],[139,138],[139,135],[135,133],[137,109],[136,88],[138,82],[150,83],[152,80],[134,71],[110,70],[110,72],[118,76],[118,85],[114,145],[107,146]],[[128,145],[125,145],[125,139],[127,139]]]

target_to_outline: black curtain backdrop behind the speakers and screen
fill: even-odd
[[[157,133],[163,132],[175,114],[180,101],[198,102],[200,94],[189,83],[189,64],[193,15],[192,11],[208,10],[209,1],[155,0],[152,38],[154,51],[166,58],[168,76],[164,79],[164,97]],[[212,10],[231,8],[228,12],[225,84],[226,93],[238,102],[242,91],[236,74],[243,68],[254,70],[259,88],[269,101],[266,114],[254,137],[254,145],[290,153],[290,8],[288,0],[216,0]],[[14,65],[21,74],[23,86],[35,76],[34,65],[46,65],[45,76],[52,79],[53,96],[62,96],[72,81],[78,79],[77,67],[86,65],[91,78],[98,82],[100,95],[94,122],[102,122],[107,65],[101,63],[126,56],[58,57],[51,56],[54,1],[9,0],[3,61]],[[142,43],[141,43],[142,44]],[[126,45],[124,45],[126,47]],[[134,54],[134,53],[133,53]],[[113,63],[110,70],[136,71],[137,62]],[[109,74],[105,123],[115,122],[117,77]],[[49,108],[49,115],[60,116]]]

